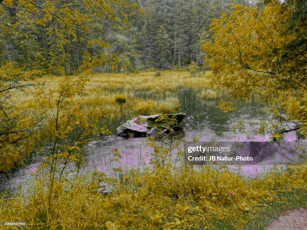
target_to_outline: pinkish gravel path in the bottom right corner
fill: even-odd
[[[287,210],[285,215],[280,215],[266,230],[307,230],[307,209]]]

